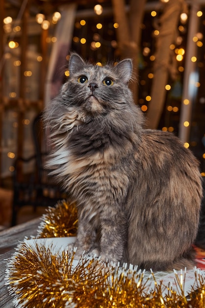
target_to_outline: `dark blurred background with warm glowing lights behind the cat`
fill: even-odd
[[[13,211],[14,185],[33,181],[33,121],[69,76],[71,51],[98,65],[132,58],[147,127],[178,135],[205,176],[204,35],[205,0],[1,0],[0,219],[1,195]]]

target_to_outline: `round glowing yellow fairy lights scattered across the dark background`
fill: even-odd
[[[168,1],[169,0],[161,0],[161,2],[168,2]],[[94,6],[93,10],[94,10],[94,13],[96,14],[96,16],[100,17],[103,14],[103,6],[101,4],[96,4]],[[158,18],[158,15],[159,15],[159,13],[156,10],[150,11],[150,17],[151,18],[153,18],[153,19]],[[201,18],[203,16],[203,11],[198,10],[196,16],[197,16],[197,18]],[[60,19],[61,19],[61,13],[59,11],[53,12],[51,16],[46,16],[46,14],[43,14],[42,12],[36,14],[36,16],[35,16],[35,22],[41,26],[42,30],[49,30],[50,27],[55,27],[55,25],[60,21]],[[95,18],[95,20],[96,20],[96,18]],[[186,35],[186,31],[187,31],[186,24],[187,24],[187,22],[188,22],[187,14],[182,13],[180,15],[180,25],[179,25],[179,28],[178,28],[179,35],[177,37],[176,43],[175,44],[173,43],[173,44],[170,45],[170,50],[174,52],[176,61],[178,63],[179,74],[184,73],[184,59],[185,59],[185,56],[186,56],[186,49],[185,49],[184,46],[182,46],[182,36]],[[203,23],[204,22],[205,21],[203,21]],[[20,49],[21,48],[20,43],[19,43],[18,39],[15,39],[15,38],[16,38],[16,34],[20,33],[21,30],[22,30],[21,29],[21,23],[16,24],[16,21],[14,22],[11,16],[7,16],[7,17],[4,18],[3,24],[4,24],[3,25],[4,32],[6,33],[6,35],[8,37],[8,48],[9,48],[9,50]],[[86,18],[76,20],[75,29],[78,29],[80,31],[80,29],[83,29],[83,27],[85,27],[86,24],[87,24]],[[92,51],[101,50],[101,48],[103,47],[103,43],[104,43],[105,39],[98,32],[98,31],[102,31],[103,27],[105,27],[105,25],[99,18],[99,21],[97,21],[96,24],[95,24],[96,31],[93,35],[93,40],[91,42],[89,41],[90,50],[92,50]],[[119,27],[119,25],[117,23],[113,22],[112,27],[113,27],[113,30],[115,31]],[[144,25],[144,24],[141,25],[142,30],[145,27],[146,27],[146,25]],[[157,37],[160,34],[159,31],[160,30],[158,30],[158,29],[154,29],[153,33],[150,33],[150,35]],[[81,31],[81,32],[83,32],[83,31]],[[87,37],[85,35],[81,36],[81,37],[79,35],[78,36],[74,35],[72,39],[73,39],[74,44],[80,44],[81,46],[88,44],[88,40],[87,40]],[[193,42],[196,44],[196,46],[198,48],[203,47],[204,35],[203,35],[202,32],[197,32],[193,36],[192,39],[193,39]],[[48,37],[46,38],[46,42],[51,43],[51,44],[55,44],[55,43],[57,43],[57,37],[49,34]],[[113,48],[113,50],[115,50],[117,48],[117,41],[116,41],[115,38],[111,39],[109,44],[110,44],[111,48]],[[6,54],[4,54],[5,58],[8,56],[8,53],[9,53],[9,51],[7,51]],[[139,81],[140,86],[143,87],[143,86],[146,86],[146,84],[149,83],[149,80],[150,80],[150,82],[152,82],[152,79],[154,78],[154,73],[152,71],[152,66],[153,66],[152,63],[154,63],[154,61],[155,61],[155,55],[154,55],[153,50],[150,46],[148,46],[148,45],[143,46],[142,45],[142,56],[144,57],[145,62],[149,61],[151,63],[150,64],[150,71],[147,72],[146,76],[143,76],[144,78],[141,78],[141,80]],[[66,57],[66,59],[69,60],[69,55]],[[36,61],[41,62],[42,60],[43,60],[42,56],[37,55]],[[199,59],[197,58],[197,55],[193,55],[191,57],[191,62],[193,62],[193,63],[197,62],[197,65],[199,67],[202,67],[204,65],[203,62],[199,61]],[[103,62],[98,61],[96,64],[97,65],[103,65]],[[15,67],[19,67],[19,66],[21,66],[21,61],[15,60],[13,62],[13,65]],[[33,72],[30,69],[26,69],[25,72],[24,72],[24,75],[27,78],[31,77],[32,74],[33,74]],[[69,71],[67,69],[65,70],[65,76],[69,76]],[[201,83],[199,81],[196,81],[195,84],[194,84],[194,87],[200,88]],[[167,92],[171,92],[173,90],[173,85],[171,83],[166,84],[165,90]],[[9,92],[9,98],[10,99],[18,98],[18,93],[16,93],[15,91]],[[149,102],[151,100],[152,100],[152,97],[151,97],[150,93],[146,93],[145,96],[141,96],[141,97],[139,96],[138,103],[139,103],[141,110],[143,112],[145,112],[145,113],[147,112],[147,110],[149,108]],[[189,101],[188,98],[185,98],[182,103],[184,105],[189,105],[190,101]],[[178,105],[168,104],[166,106],[166,112],[172,113],[172,114],[178,114],[179,111],[180,111],[179,109],[180,108],[179,108]],[[29,120],[25,119],[25,124],[28,125],[29,123],[30,123]],[[184,127],[188,127],[190,124],[191,123],[188,120],[184,121],[184,123],[183,123]],[[16,125],[16,127],[17,127],[17,125]],[[163,126],[161,129],[164,130],[164,131],[171,131],[171,132],[175,131],[174,126]],[[185,143],[184,146],[189,147],[189,143]],[[194,146],[194,143],[192,144],[192,146]],[[203,153],[202,156],[205,159],[205,153]],[[11,158],[11,159],[15,158],[15,153],[9,151],[8,157]],[[13,170],[14,170],[13,167],[10,166],[10,171],[13,171]]]

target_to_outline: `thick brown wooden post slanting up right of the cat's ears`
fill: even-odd
[[[157,129],[166,98],[165,86],[169,73],[173,74],[173,65],[170,62],[170,45],[175,42],[176,30],[180,14],[186,8],[184,0],[169,0],[164,4],[163,14],[160,17],[160,29],[156,42],[154,61],[154,79],[151,89],[151,101],[148,106],[147,123],[149,128]]]

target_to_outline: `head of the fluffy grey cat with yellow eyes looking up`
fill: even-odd
[[[132,74],[130,59],[116,66],[98,66],[84,62],[73,53],[70,76],[61,89],[63,103],[76,106],[90,116],[106,115],[111,110],[125,110],[133,104],[128,82]]]

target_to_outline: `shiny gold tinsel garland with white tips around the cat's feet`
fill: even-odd
[[[72,210],[75,209],[75,210]],[[72,213],[73,225],[64,218]],[[73,212],[74,211],[74,212]],[[76,230],[77,212],[67,201],[58,203],[43,216],[38,230],[42,237],[60,237]],[[62,227],[60,224],[62,224]],[[48,227],[48,229],[47,229]],[[61,230],[60,230],[61,229]],[[72,235],[75,234],[72,233]],[[45,239],[46,241],[46,239]],[[74,266],[75,251],[58,251],[52,247],[20,243],[7,263],[6,284],[19,308],[205,308],[205,277],[195,271],[195,285],[189,297],[184,294],[185,277],[175,275],[177,290],[158,283],[154,287],[144,272],[105,265],[95,258],[82,256]],[[184,274],[185,275],[185,274]],[[195,290],[197,287],[197,290]]]

